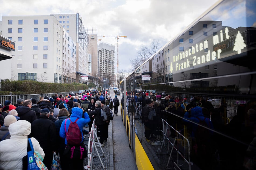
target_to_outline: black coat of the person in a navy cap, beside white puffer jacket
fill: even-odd
[[[31,136],[36,138],[44,153],[56,151],[56,128],[54,123],[45,115],[40,115],[31,125]]]

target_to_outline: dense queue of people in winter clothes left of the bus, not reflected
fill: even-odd
[[[90,133],[95,120],[100,137],[97,147],[103,147],[107,142],[113,108],[110,94],[101,91],[65,96],[55,93],[52,97],[44,96],[38,100],[23,101],[19,98],[15,105],[6,100],[4,106],[0,104],[0,169],[22,169],[28,138],[48,169],[51,169],[54,152],[59,154],[62,169],[83,169],[83,159],[71,159],[64,155],[69,125],[76,121],[83,136]],[[106,112],[107,120],[103,121],[101,109]],[[84,127],[89,127],[89,131]],[[79,145],[84,146],[83,138]]]

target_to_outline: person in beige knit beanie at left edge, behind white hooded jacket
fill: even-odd
[[[0,128],[0,140],[3,141],[5,139],[10,139],[11,135],[9,133],[9,125],[16,122],[17,119],[13,115],[7,115],[4,119],[4,126],[1,126]]]

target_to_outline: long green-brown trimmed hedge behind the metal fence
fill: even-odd
[[[43,94],[43,93],[59,93],[68,91],[78,91],[88,89],[87,85],[72,83],[72,84],[59,84],[59,83],[42,83],[31,80],[24,81],[4,81],[1,82],[0,95],[13,94]]]

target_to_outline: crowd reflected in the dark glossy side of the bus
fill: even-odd
[[[238,105],[236,116],[225,125],[226,105],[222,104],[215,108],[203,97],[189,99],[188,96],[155,94],[150,91],[127,92],[126,95],[127,110],[129,110],[128,105],[142,106],[142,124],[145,125],[145,138],[150,145],[158,145],[157,139],[163,139],[161,136],[163,134],[160,133],[163,119],[190,140],[191,160],[202,169],[211,168],[209,166],[212,165],[213,155],[215,161],[233,162],[231,165],[224,165],[233,169],[244,169],[248,160],[255,161],[256,102],[254,100],[248,104]],[[122,99],[122,105],[123,102]],[[179,138],[176,131],[169,128],[167,137]]]

